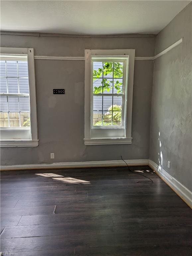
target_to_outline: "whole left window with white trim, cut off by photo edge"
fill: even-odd
[[[0,130],[5,146],[38,146],[33,49],[0,54]]]

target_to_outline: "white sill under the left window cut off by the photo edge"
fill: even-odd
[[[0,147],[37,147],[39,140],[1,140]]]

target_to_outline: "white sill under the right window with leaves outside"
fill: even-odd
[[[86,146],[88,146],[88,145],[132,144],[132,138],[84,139],[84,143]]]

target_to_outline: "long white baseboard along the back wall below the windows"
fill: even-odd
[[[148,165],[148,159],[125,160],[128,165]],[[29,169],[56,169],[56,168],[83,168],[83,167],[105,167],[105,166],[125,166],[122,160],[112,161],[90,161],[90,162],[66,162],[52,164],[23,164],[23,165],[3,165],[2,171],[8,170],[29,170]]]

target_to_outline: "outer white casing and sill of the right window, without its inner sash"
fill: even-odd
[[[127,84],[127,114],[125,137],[91,138],[91,57],[129,57]],[[134,82],[135,49],[124,50],[85,50],[85,145],[131,144],[133,82]],[[118,128],[112,128],[118,129]]]

